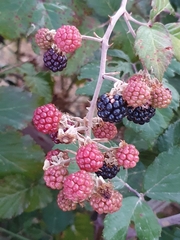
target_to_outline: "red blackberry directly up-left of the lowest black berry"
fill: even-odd
[[[95,143],[88,143],[80,147],[76,154],[76,162],[81,170],[96,172],[103,166],[104,155]]]

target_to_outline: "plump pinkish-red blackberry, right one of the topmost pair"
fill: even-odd
[[[54,41],[62,52],[70,53],[81,46],[82,38],[75,26],[64,25],[57,29]]]

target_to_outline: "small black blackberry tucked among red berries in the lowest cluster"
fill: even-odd
[[[111,179],[116,176],[116,174],[119,172],[120,168],[116,165],[109,165],[106,162],[104,162],[103,166],[95,172],[98,177],[102,177],[104,179]]]

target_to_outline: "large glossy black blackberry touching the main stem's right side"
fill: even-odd
[[[127,115],[127,103],[121,95],[105,93],[98,98],[97,115],[104,122],[120,122]]]

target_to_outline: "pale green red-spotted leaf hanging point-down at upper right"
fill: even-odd
[[[171,38],[165,26],[155,23],[152,27],[139,27],[135,50],[142,64],[148,70],[153,70],[154,75],[161,81],[173,54]]]

